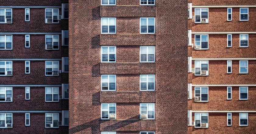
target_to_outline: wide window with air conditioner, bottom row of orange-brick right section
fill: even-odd
[[[208,113],[195,113],[195,128],[208,128]]]

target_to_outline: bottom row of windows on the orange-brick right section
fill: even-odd
[[[195,128],[208,128],[208,113],[194,113],[194,121],[190,122],[192,113],[188,111],[188,125],[194,125]],[[227,126],[232,126],[232,113],[227,113]],[[248,126],[248,113],[239,113],[239,126]]]

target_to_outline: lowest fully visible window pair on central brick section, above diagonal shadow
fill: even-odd
[[[116,103],[101,103],[101,119],[116,119]],[[155,119],[155,103],[140,103],[140,119]]]

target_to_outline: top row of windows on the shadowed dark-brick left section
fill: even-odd
[[[58,8],[45,9],[45,23],[59,23],[60,19],[69,18],[69,4],[62,4],[62,15]],[[30,9],[25,8],[25,21],[30,21]],[[0,23],[12,23],[12,9],[0,8]]]

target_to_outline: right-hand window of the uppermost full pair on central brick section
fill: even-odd
[[[140,18],[140,33],[155,33],[155,18]]]

